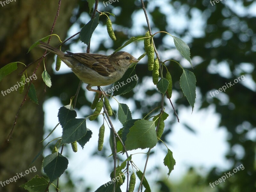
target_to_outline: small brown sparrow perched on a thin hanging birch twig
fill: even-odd
[[[115,52],[111,55],[101,55],[92,53],[64,53],[59,49],[42,41],[39,47],[46,49],[59,56],[73,73],[84,83],[88,84],[88,91],[101,91],[92,89],[92,86],[105,86],[118,81],[132,63],[139,62],[130,53]]]

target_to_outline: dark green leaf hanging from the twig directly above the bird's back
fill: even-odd
[[[92,33],[95,30],[95,28],[98,26],[99,24],[99,18],[100,15],[98,12],[96,12],[95,17],[93,19],[91,19],[82,29],[80,32],[80,40],[82,42],[84,42],[85,44],[89,44],[91,37],[92,37]]]

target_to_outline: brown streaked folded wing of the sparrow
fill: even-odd
[[[109,76],[116,69],[109,63],[108,56],[91,53],[73,53],[72,56],[81,64],[92,68],[102,76]]]

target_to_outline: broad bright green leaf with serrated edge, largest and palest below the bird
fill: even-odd
[[[153,148],[157,143],[155,122],[145,119],[137,120],[127,134],[126,150]]]

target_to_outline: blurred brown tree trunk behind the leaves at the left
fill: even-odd
[[[53,33],[58,34],[62,40],[66,38],[67,30],[71,25],[69,20],[76,3],[77,1],[61,2],[59,17]],[[38,39],[50,34],[57,10],[58,1],[52,0],[13,0],[8,4],[5,2],[4,6],[0,5],[0,68],[14,61],[20,61],[27,65],[42,56],[44,52],[42,49],[35,48],[27,53],[28,48]],[[56,45],[58,41],[52,37],[51,44],[54,42]],[[51,69],[53,55],[51,59],[49,58],[47,57],[47,68]],[[32,75],[37,64],[38,62],[27,69],[28,76]],[[18,64],[16,71],[3,78],[0,83],[0,92],[6,91],[20,82],[19,73],[23,69],[24,66]],[[45,84],[41,78],[43,71],[42,62],[36,71],[37,79],[33,80],[39,105],[33,103],[28,96],[26,97],[9,142],[7,142],[7,137],[27,91],[28,83],[22,94],[15,90],[10,93],[6,92],[6,95],[0,94],[0,181],[2,181],[0,191],[26,191],[19,186],[32,179],[36,174],[42,175],[42,158],[30,166],[35,166],[36,172],[34,172],[35,169],[30,169],[31,171],[26,174],[25,171],[29,169],[29,164],[43,147],[42,143],[39,143],[43,139],[44,127],[42,105],[45,100]],[[17,176],[17,174],[20,175],[19,173],[24,176],[16,182],[12,181],[7,184],[6,180]]]

